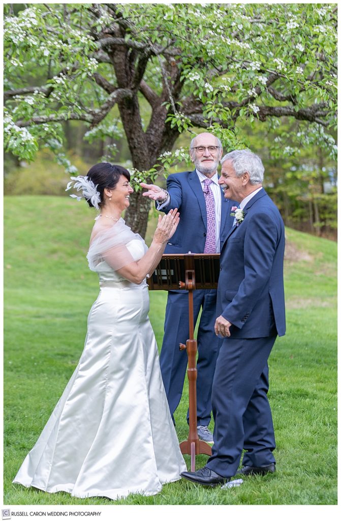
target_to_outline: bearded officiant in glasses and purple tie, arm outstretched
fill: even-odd
[[[179,208],[180,224],[167,243],[165,254],[216,254],[220,252],[223,239],[221,231],[226,233],[233,225],[230,214],[235,204],[234,201],[224,199],[218,184],[221,142],[213,134],[200,133],[191,141],[190,156],[194,170],[171,174],[167,179],[167,190],[155,184],[141,183],[147,189],[143,195],[156,201],[156,208],[161,212],[168,213],[172,208]],[[194,292],[194,326],[201,310],[197,333],[197,431],[199,439],[207,443],[213,443],[208,426],[211,420],[212,380],[219,347],[219,339],[214,334],[216,302],[216,290]],[[187,367],[187,354],[179,350],[179,343],[185,344],[188,336],[187,291],[168,291],[160,367],[174,424],[174,412],[181,400]]]

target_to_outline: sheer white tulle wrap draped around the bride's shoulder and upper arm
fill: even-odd
[[[127,244],[134,239],[142,241],[144,251],[147,250],[144,240],[125,225],[120,219],[111,228],[98,233],[87,252],[87,261],[92,271],[118,270],[134,262]]]

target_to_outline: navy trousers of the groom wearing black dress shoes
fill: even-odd
[[[224,339],[212,386],[214,432],[207,467],[224,477],[243,465],[275,463],[271,409],[268,401],[268,357],[276,336]]]

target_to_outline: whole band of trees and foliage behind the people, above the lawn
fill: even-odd
[[[207,129],[262,157],[286,225],[336,238],[336,23],[336,4],[7,4],[5,193],[64,193],[102,159],[165,182]],[[137,192],[142,235],[148,210]]]

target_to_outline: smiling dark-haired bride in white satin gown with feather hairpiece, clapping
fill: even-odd
[[[87,260],[100,290],[78,366],[13,482],[78,498],[153,495],[186,470],[163,389],[146,284],[179,213],[159,216],[147,249],[120,217],[133,192],[128,170],[99,163],[86,177],[71,179],[67,190],[73,184],[99,210]]]

